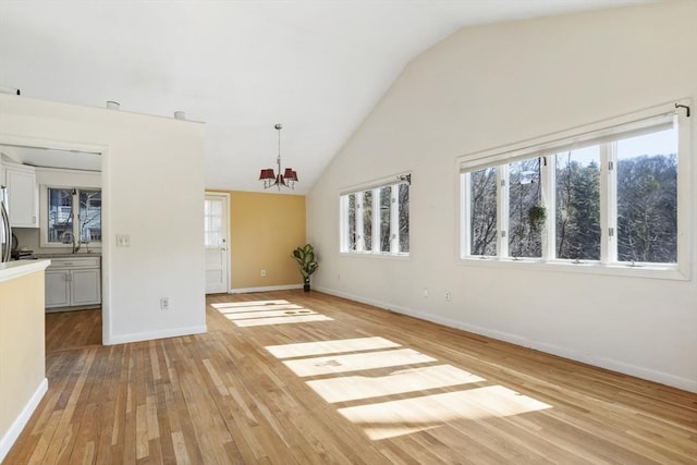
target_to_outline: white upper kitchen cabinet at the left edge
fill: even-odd
[[[38,228],[38,195],[33,167],[5,163],[8,212],[12,228]]]

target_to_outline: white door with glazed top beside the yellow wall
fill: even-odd
[[[206,194],[206,294],[228,292],[228,194]]]

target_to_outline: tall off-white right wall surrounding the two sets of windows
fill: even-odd
[[[316,286],[697,391],[694,277],[463,265],[455,167],[465,154],[697,102],[696,21],[697,2],[685,1],[513,22],[462,29],[415,59],[308,196]],[[408,170],[411,258],[341,256],[340,189]],[[697,185],[695,172],[690,180]],[[697,201],[689,208],[695,217]]]

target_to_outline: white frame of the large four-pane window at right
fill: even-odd
[[[684,109],[676,105],[689,106],[689,99],[682,99],[677,103],[671,102],[649,109],[603,120],[597,123],[578,126],[572,130],[550,134],[522,143],[502,146],[490,150],[475,152],[456,159],[458,193],[458,262],[466,266],[512,267],[525,269],[554,270],[564,272],[583,272],[625,277],[644,277],[672,280],[689,280],[692,264],[689,257],[693,250],[694,227],[690,222],[692,209],[692,140],[690,120]],[[607,144],[621,138],[620,135],[641,134],[660,131],[662,125],[672,124],[677,127],[677,257],[675,264],[633,264],[615,261],[617,250],[616,224],[616,151],[615,144]],[[555,258],[554,241],[555,220],[550,220],[554,213],[548,215],[547,232],[542,234],[542,254],[539,258],[509,257],[509,237],[502,236],[502,224],[508,218],[508,185],[502,186],[501,180],[508,179],[508,164],[517,160],[546,156],[547,163],[542,163],[540,173],[541,198],[548,212],[555,212],[555,157],[554,154],[584,147],[591,144],[600,145],[600,166],[613,163],[613,172],[601,169],[600,173],[600,259],[580,260]],[[469,175],[467,173],[487,167],[497,167],[497,255],[474,256],[470,250],[470,206],[469,206]],[[506,183],[508,184],[508,183]],[[501,192],[499,192],[501,191]],[[504,195],[505,194],[505,195]],[[504,215],[505,213],[505,215]],[[614,234],[610,234],[610,229]],[[550,241],[551,238],[551,241]]]

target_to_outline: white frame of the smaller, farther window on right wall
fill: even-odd
[[[408,259],[411,257],[411,200],[412,200],[412,175],[411,173],[398,174],[389,176],[370,183],[362,184],[358,186],[342,189],[339,193],[339,234],[340,234],[340,254],[342,256],[357,256],[357,257],[390,257],[398,259]],[[400,252],[400,185],[405,184],[408,186],[409,204],[408,204],[408,225],[409,225],[409,252]],[[390,187],[390,250],[381,250],[381,215],[380,215],[380,197],[381,189]],[[364,203],[365,193],[371,192],[371,248],[367,249],[364,242]],[[348,206],[350,196],[354,196],[355,201],[355,230],[356,230],[356,246],[352,249],[352,243],[350,238],[350,221],[348,221]],[[376,206],[378,208],[376,208]]]

